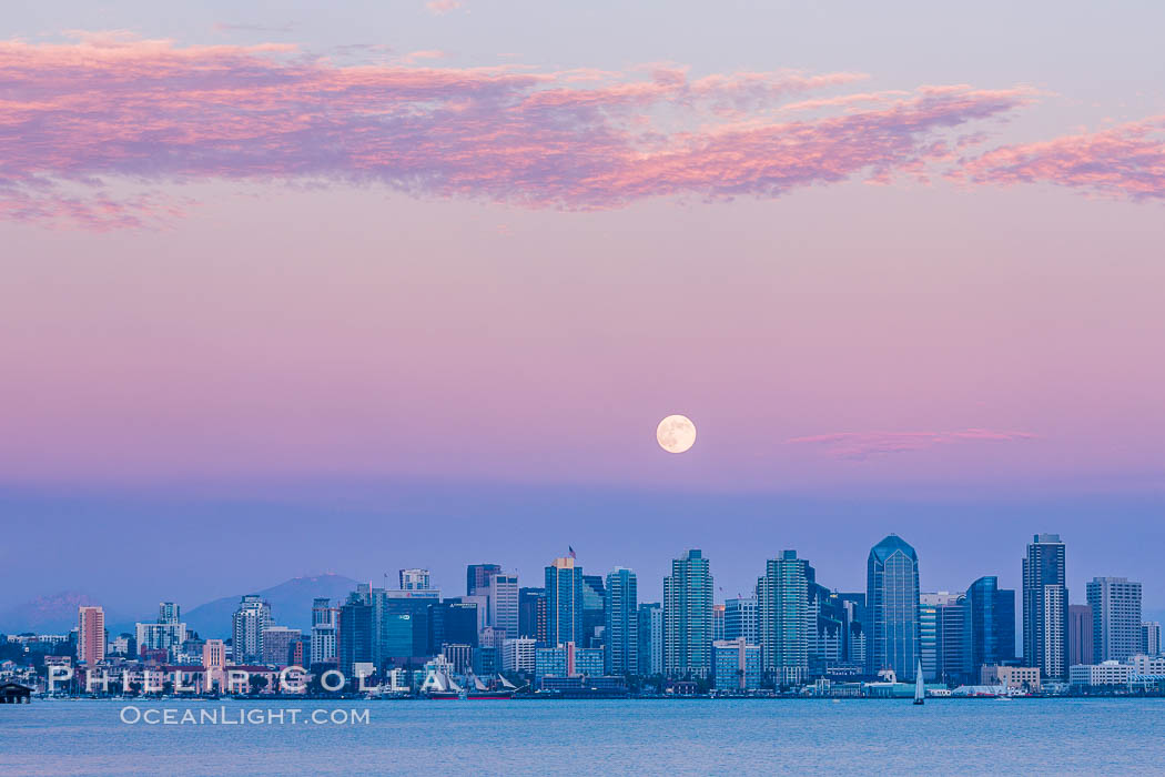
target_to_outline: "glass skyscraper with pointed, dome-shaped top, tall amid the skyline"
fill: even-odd
[[[866,570],[869,673],[892,669],[901,679],[915,678],[919,661],[918,595],[915,549],[898,535],[874,545]]]

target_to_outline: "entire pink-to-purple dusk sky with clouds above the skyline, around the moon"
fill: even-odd
[[[1165,607],[1158,3],[312,5],[0,22],[0,605],[1061,531]]]

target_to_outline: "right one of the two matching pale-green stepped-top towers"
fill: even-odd
[[[762,663],[783,685],[809,671],[809,561],[786,550],[765,563],[756,584]]]

